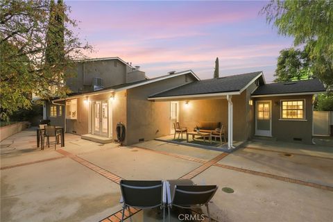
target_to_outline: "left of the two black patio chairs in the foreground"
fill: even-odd
[[[121,202],[123,203],[121,221],[126,208],[130,212],[130,207],[141,210],[160,207],[163,210],[163,221],[165,221],[167,191],[164,187],[161,180],[121,180]]]

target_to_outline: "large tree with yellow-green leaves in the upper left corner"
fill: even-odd
[[[76,21],[69,18],[69,8],[62,1],[57,6],[53,2],[51,7],[52,2],[0,2],[1,119],[8,119],[16,110],[31,108],[33,93],[44,99],[65,96],[69,89],[64,80],[73,76],[69,72],[73,60],[83,58],[83,52],[91,49],[71,31]],[[51,92],[50,86],[56,90]]]

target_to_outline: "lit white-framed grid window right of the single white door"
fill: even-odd
[[[305,101],[281,101],[281,119],[305,119]]]

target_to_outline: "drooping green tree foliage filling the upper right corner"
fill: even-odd
[[[295,46],[305,46],[314,76],[333,85],[333,1],[272,0],[261,13],[281,35],[294,37]]]

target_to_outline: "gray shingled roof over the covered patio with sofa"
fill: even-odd
[[[187,85],[182,85],[166,92],[161,92],[149,96],[149,98],[168,97],[168,96],[185,96],[195,94],[211,94],[221,92],[239,92],[246,87],[251,80],[261,74],[262,71],[251,72],[248,74],[239,74],[234,76],[225,76],[221,78],[210,78],[195,81]]]

